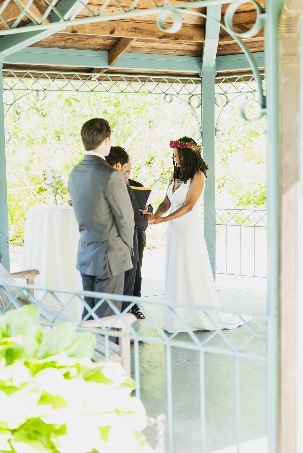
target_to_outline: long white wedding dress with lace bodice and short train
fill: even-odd
[[[167,196],[171,202],[171,212],[176,211],[186,202],[191,180],[172,192],[169,186]],[[197,212],[197,204],[191,212],[168,222],[166,233],[166,278],[165,300],[186,304],[221,307],[211,271],[202,226]],[[207,311],[190,307],[174,308],[178,317],[186,323],[189,330],[233,329],[244,324],[238,315]],[[251,317],[242,317],[246,322]],[[174,333],[186,332],[170,308],[164,309],[164,329]]]

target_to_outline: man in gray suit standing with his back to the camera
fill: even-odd
[[[132,268],[134,219],[123,174],[110,167],[105,156],[111,149],[108,121],[93,118],[83,124],[81,138],[86,153],[68,181],[68,193],[78,222],[77,269],[83,290],[123,294],[124,272]],[[99,299],[84,298],[90,308]],[[112,301],[120,310],[121,302]],[[88,311],[84,307],[82,318]],[[114,314],[103,302],[99,318]]]

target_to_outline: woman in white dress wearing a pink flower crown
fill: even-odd
[[[201,146],[195,140],[182,137],[171,141],[170,147],[174,171],[166,197],[154,214],[155,225],[168,222],[165,300],[221,307],[197,213],[208,166],[201,157]],[[171,213],[162,217],[169,208]],[[230,313],[206,312],[190,307],[176,307],[174,311],[165,308],[164,329],[170,333],[186,332],[186,325],[192,331],[232,329],[251,320]]]

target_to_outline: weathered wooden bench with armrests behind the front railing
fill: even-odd
[[[5,308],[8,307],[10,301],[20,292],[20,288],[14,288],[10,286],[5,287],[5,283],[7,284],[14,284],[15,280],[13,277],[16,278],[24,278],[27,280],[28,284],[34,284],[34,277],[39,275],[38,270],[31,269],[29,271],[21,271],[15,272],[10,275],[7,270],[0,264],[0,285],[5,288],[5,291],[0,286],[0,312],[2,313]],[[7,294],[6,294],[7,292]],[[64,313],[60,313],[58,315],[58,311],[50,308],[48,305],[41,303],[38,299],[34,297],[34,291],[29,290],[30,296],[27,297],[23,292],[20,293],[17,299],[14,301],[14,305],[12,304],[9,309],[19,308],[22,307],[24,304],[33,304],[40,309],[40,320],[43,322],[51,322],[56,318],[55,323],[62,323],[62,322],[70,322],[68,317]],[[60,292],[60,291],[58,291]],[[124,323],[123,319],[125,319],[126,323]],[[123,315],[123,319],[118,318],[118,316],[108,316],[106,318],[102,318],[102,323],[104,327],[117,328],[122,333],[129,334],[129,328],[127,327],[127,323],[131,325],[134,321],[136,321],[135,315],[132,313],[126,313]],[[55,324],[54,324],[55,325]],[[83,329],[94,329],[95,337],[96,337],[96,347],[95,352],[93,355],[94,361],[104,361],[105,360],[105,338],[103,330],[100,328],[98,321],[91,320],[91,321],[84,321],[81,323],[80,330]],[[130,376],[131,374],[131,352],[130,352],[130,338],[129,337],[120,337],[119,344],[108,340],[108,358],[112,361],[118,361],[122,364],[124,370],[126,371],[127,375]]]

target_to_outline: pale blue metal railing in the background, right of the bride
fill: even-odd
[[[267,211],[216,209],[216,272],[267,276]]]

